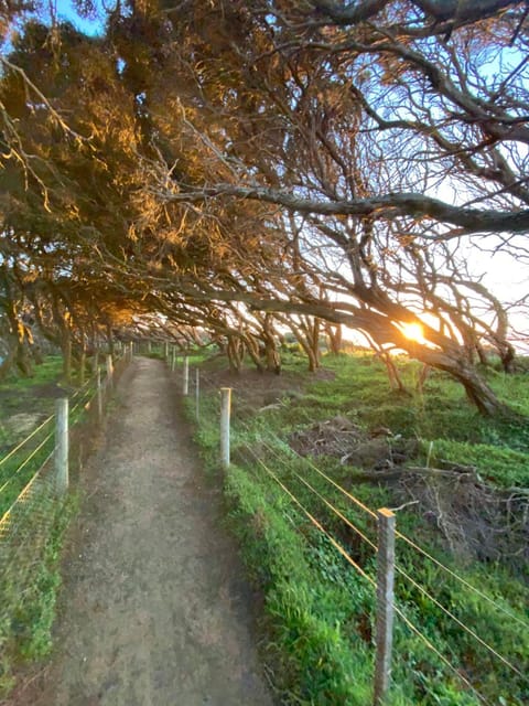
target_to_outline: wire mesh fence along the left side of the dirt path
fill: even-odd
[[[106,374],[99,388],[100,375],[94,375],[69,397],[68,471],[74,482],[104,421],[98,397],[108,399],[127,362],[117,359],[112,376]],[[57,486],[56,440],[56,415],[50,415],[0,459],[0,687],[10,657],[40,650],[35,607],[53,580],[54,533],[71,498]]]

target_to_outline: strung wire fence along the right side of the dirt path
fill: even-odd
[[[224,432],[219,424],[220,391],[215,374],[208,376],[198,366],[190,371],[188,362],[181,362],[171,353],[168,364],[175,373],[182,394],[187,396],[191,408],[194,408],[199,432],[208,429],[212,434],[213,427],[218,428],[218,463],[226,466],[222,438]],[[309,535],[303,526],[309,522],[314,532],[324,536],[347,563],[350,570],[361,576],[375,590],[377,576],[374,556],[379,550],[377,510],[369,507],[312,459],[300,456],[285,439],[271,431],[266,422],[257,427],[255,422],[248,424],[246,410],[240,414],[236,408],[231,415],[231,449],[235,449],[237,460],[246,461],[245,468],[253,477],[266,478],[274,483],[296,510],[300,516],[299,528],[304,539]],[[354,534],[361,545],[360,549],[343,541],[344,532],[339,530],[339,525],[345,525]],[[504,597],[489,596],[482,587],[474,586],[457,569],[447,566],[402,532],[397,531],[396,538],[399,543],[395,565],[396,597],[390,600],[401,627],[431,655],[432,666],[424,665],[424,670],[444,670],[476,703],[527,703],[527,640],[517,640],[517,635],[527,637],[529,620],[509,606]],[[431,582],[424,585],[423,577],[430,570],[424,563],[438,571],[436,587],[432,587]],[[414,570],[413,567],[418,569]],[[446,582],[453,585],[453,590],[447,589]],[[457,595],[456,602],[451,598],[454,595]],[[497,621],[495,630],[488,631],[487,614],[493,612],[503,616],[504,620]],[[504,633],[508,639],[501,642]],[[494,644],[494,638],[501,642],[503,649]],[[510,648],[509,653],[505,652],[505,645]],[[479,664],[479,668],[476,668],[476,664]],[[382,702],[375,699],[375,703]]]

